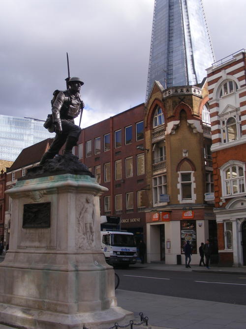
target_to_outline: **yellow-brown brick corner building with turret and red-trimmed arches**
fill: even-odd
[[[216,258],[216,222],[206,79],[165,89],[155,81],[146,103],[148,262],[184,263],[183,247],[210,238]]]

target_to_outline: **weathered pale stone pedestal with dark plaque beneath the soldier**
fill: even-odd
[[[88,175],[17,182],[9,250],[0,263],[0,323],[25,329],[128,324],[100,246],[99,195]]]

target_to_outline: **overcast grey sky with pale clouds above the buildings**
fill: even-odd
[[[164,0],[163,0],[164,1]],[[203,0],[219,60],[246,48],[246,0]],[[85,82],[82,127],[145,101],[154,0],[0,1],[0,114],[46,119],[55,89]]]

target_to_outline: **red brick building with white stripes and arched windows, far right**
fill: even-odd
[[[221,265],[246,265],[246,52],[207,70]]]

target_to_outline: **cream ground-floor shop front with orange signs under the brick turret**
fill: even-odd
[[[213,213],[206,213],[203,209],[146,213],[147,262],[184,264],[183,248],[186,241],[189,241],[192,246],[192,263],[199,264],[201,242],[216,234],[210,232],[212,221],[215,222]]]

